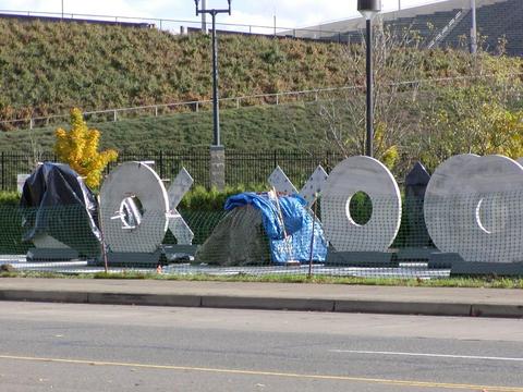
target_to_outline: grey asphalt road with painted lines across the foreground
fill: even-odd
[[[0,391],[523,392],[523,320],[0,303]]]

